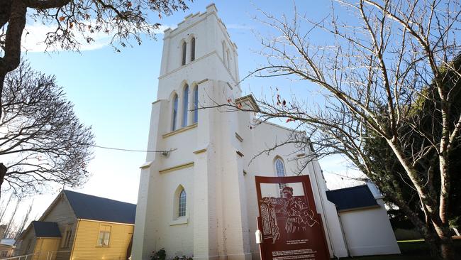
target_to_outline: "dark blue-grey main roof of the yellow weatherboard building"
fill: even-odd
[[[77,219],[135,224],[136,205],[63,190]]]

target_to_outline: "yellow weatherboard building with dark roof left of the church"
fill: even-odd
[[[128,259],[136,205],[62,190],[18,238],[33,260]]]

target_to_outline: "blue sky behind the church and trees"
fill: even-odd
[[[210,1],[194,1],[186,12],[178,11],[172,16],[164,17],[160,23],[174,26],[189,13],[205,11]],[[240,77],[244,77],[264,59],[255,51],[261,50],[260,39],[253,31],[262,35],[270,30],[252,19],[258,15],[257,8],[274,16],[293,13],[291,1],[215,1],[218,16],[226,24],[231,40],[238,45],[238,62]],[[329,1],[297,1],[299,13],[318,20],[329,13]],[[152,19],[157,22],[158,19]],[[31,30],[34,28],[30,24]],[[35,25],[36,26],[36,25]],[[38,31],[38,30],[37,30]],[[36,36],[40,36],[39,34]],[[316,37],[322,43],[321,34]],[[315,35],[314,35],[315,37]],[[122,48],[116,53],[106,45],[107,39],[99,38],[94,46],[83,46],[81,53],[57,51],[44,53],[30,37],[26,42],[29,51],[24,53],[35,70],[55,75],[57,82],[67,93],[67,98],[74,104],[74,109],[84,124],[93,128],[98,146],[110,146],[144,150],[147,147],[150,108],[157,94],[157,77],[160,71],[162,55],[162,34],[157,41],[145,38],[143,44],[133,48]],[[296,94],[298,97],[312,99],[305,87],[289,80],[264,80],[250,78],[241,85],[244,94],[254,92],[270,95],[270,87],[279,87],[283,94]],[[139,166],[144,163],[145,153],[111,151],[94,149],[94,159],[89,164],[92,174],[88,183],[76,191],[109,197],[135,203],[138,197]],[[321,167],[326,173],[330,188],[342,188],[338,176],[331,172],[345,174],[347,169],[339,157],[323,159]],[[34,213],[41,215],[62,187],[45,190],[46,195],[35,196]],[[4,196],[6,197],[6,196]],[[24,202],[23,208],[29,201]]]

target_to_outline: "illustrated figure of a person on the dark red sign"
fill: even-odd
[[[314,213],[299,197],[293,197],[293,188],[284,187],[282,189],[282,200],[279,200],[279,212],[287,215],[285,230],[287,233],[305,231],[306,227],[318,224],[314,220]]]

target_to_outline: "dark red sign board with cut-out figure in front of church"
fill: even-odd
[[[262,260],[330,259],[309,175],[256,176]]]

